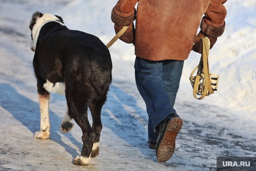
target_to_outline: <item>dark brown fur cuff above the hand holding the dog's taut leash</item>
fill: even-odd
[[[128,26],[135,20],[135,8],[134,12],[132,12],[129,16],[122,16],[121,13],[116,11],[115,7],[111,12],[111,20],[118,26]]]

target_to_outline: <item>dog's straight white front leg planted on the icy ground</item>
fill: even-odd
[[[41,95],[38,93],[39,106],[40,106],[40,131],[34,135],[35,138],[49,139],[50,138],[50,118],[49,118],[49,101],[50,94]]]

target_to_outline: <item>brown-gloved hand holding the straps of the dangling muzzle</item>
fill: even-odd
[[[199,54],[202,53],[202,40],[201,38],[204,38],[205,35],[202,31],[200,31],[197,35],[196,35],[196,38],[195,38],[195,41],[194,41],[194,45],[192,47],[192,50],[195,51],[195,52],[198,52]],[[211,36],[207,36],[209,39],[210,39],[210,49],[213,47],[213,45],[215,44],[215,42],[217,41],[217,38],[214,38],[214,37],[211,37]]]

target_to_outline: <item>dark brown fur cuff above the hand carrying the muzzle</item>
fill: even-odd
[[[200,29],[204,34],[214,37],[214,38],[220,37],[223,34],[223,32],[225,30],[225,25],[226,25],[225,21],[221,27],[215,27],[215,26],[212,26],[212,25],[206,23],[205,20],[206,20],[205,17],[203,17],[201,24],[200,24]]]

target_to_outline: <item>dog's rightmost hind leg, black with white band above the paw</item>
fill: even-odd
[[[100,113],[105,101],[106,99],[102,101],[94,102],[90,105],[90,111],[92,113],[92,121],[93,121],[92,129],[95,132],[95,139],[93,142],[91,157],[96,157],[99,155],[100,132],[102,130]]]

